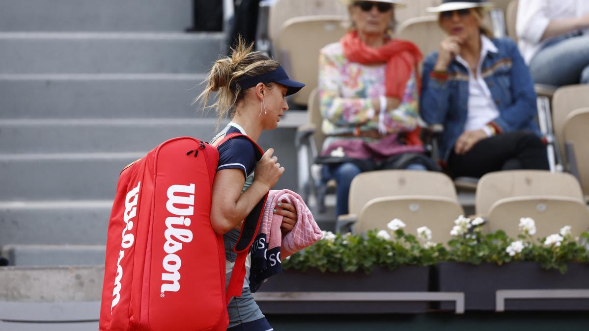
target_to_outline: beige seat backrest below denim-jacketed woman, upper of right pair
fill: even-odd
[[[489,172],[478,182],[475,212],[487,215],[491,206],[500,199],[538,195],[583,199],[581,186],[570,173],[545,170]]]

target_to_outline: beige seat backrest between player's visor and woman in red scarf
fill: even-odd
[[[295,103],[306,105],[310,92],[317,86],[319,51],[339,41],[348,31],[347,24],[344,16],[322,15],[291,18],[282,25],[276,57],[292,79],[306,85],[293,96]]]

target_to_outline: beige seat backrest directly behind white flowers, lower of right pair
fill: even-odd
[[[583,201],[569,197],[524,196],[501,199],[491,206],[488,222],[491,232],[504,230],[511,238],[519,235],[519,220],[532,218],[536,223],[534,238],[544,238],[571,226],[578,237],[589,229],[589,210]]]

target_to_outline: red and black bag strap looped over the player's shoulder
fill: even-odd
[[[243,135],[242,133],[234,132],[229,133],[226,135],[219,143],[216,144],[216,147],[219,148],[223,143],[229,141],[229,139],[233,139],[236,137],[245,137],[249,139],[250,142],[256,147],[256,159],[259,160],[262,158],[263,150],[257,145],[256,142],[252,140],[249,136]],[[233,296],[241,296],[241,292],[243,289],[243,281],[246,277],[246,259],[247,254],[249,253],[250,246],[252,246],[252,242],[256,238],[257,231],[260,228],[260,222],[262,222],[262,216],[264,211],[264,206],[266,205],[266,200],[268,199],[268,193],[263,196],[262,199],[256,204],[252,212],[247,215],[246,219],[243,220],[243,224],[241,225],[241,231],[239,234],[239,238],[237,239],[237,243],[233,248],[233,252],[237,253],[237,258],[235,260],[235,264],[233,265],[233,270],[231,271],[231,278],[229,280],[229,285],[227,286],[226,290],[226,302],[229,305],[229,301]]]

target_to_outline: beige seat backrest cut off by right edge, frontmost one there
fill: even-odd
[[[564,120],[564,142],[573,144],[581,188],[585,200],[589,198],[589,108],[581,108],[568,114]]]

